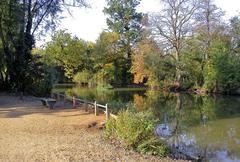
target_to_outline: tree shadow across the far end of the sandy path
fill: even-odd
[[[40,98],[25,96],[21,100],[19,96],[0,95],[0,118],[21,118],[26,115],[42,114],[42,115],[56,115],[62,112],[76,112],[85,108],[78,105],[77,108],[73,108],[70,102],[64,103],[58,101],[54,106],[54,109],[50,110],[46,106],[43,106]],[[61,115],[61,117],[69,116],[81,116],[89,115],[92,111],[84,111],[81,113],[74,113],[67,115]]]

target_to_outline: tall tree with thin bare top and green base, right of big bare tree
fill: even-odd
[[[222,16],[224,13],[212,0],[201,0],[197,4],[194,14],[195,28],[193,37],[186,39],[187,44],[183,49],[182,64],[184,67],[184,79],[186,87],[201,88],[205,83],[204,69],[211,61],[211,51],[214,42],[223,38],[224,31]],[[192,66],[194,64],[194,66]]]

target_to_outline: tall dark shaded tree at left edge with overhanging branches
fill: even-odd
[[[39,27],[50,29],[68,1],[59,0],[2,0],[0,2],[0,39],[4,62],[4,87],[24,91],[32,71],[31,50]],[[86,5],[84,0],[73,0],[75,5]]]

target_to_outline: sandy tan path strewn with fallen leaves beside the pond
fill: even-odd
[[[171,161],[144,156],[109,144],[100,123],[80,109],[55,110],[41,106],[36,98],[0,95],[0,161]]]

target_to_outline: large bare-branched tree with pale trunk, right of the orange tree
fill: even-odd
[[[153,14],[151,24],[153,35],[166,52],[174,54],[176,62],[176,82],[181,81],[180,59],[186,37],[192,33],[193,14],[197,8],[194,0],[162,0],[163,10]]]

